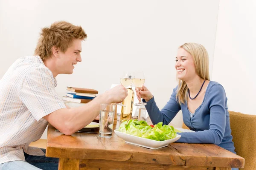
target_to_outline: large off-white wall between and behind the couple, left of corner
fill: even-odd
[[[215,45],[218,0],[0,0],[0,77],[15,59],[32,55],[40,29],[57,20],[81,25],[88,34],[82,62],[72,75],[57,77],[66,86],[103,93],[123,71],[144,71],[145,85],[161,109],[177,85],[175,54],[184,42],[198,42],[209,53]],[[172,121],[181,126],[182,117]]]

